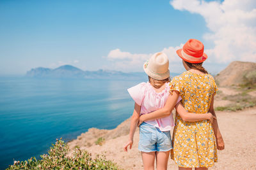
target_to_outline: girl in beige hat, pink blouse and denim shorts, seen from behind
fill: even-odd
[[[129,94],[135,101],[134,112],[131,118],[129,141],[124,146],[127,152],[128,146],[132,148],[133,136],[140,119],[140,115],[151,113],[163,108],[170,94],[170,71],[168,57],[164,53],[155,53],[144,64],[144,71],[148,74],[148,82],[140,83],[128,89]],[[211,113],[195,114],[188,113],[178,101],[173,101],[180,117],[184,121],[196,122],[198,120],[210,120]],[[148,120],[140,125],[140,141],[138,149],[141,151],[144,169],[154,169],[156,158],[157,169],[167,169],[168,157],[172,150],[170,130],[174,126],[173,117],[157,118]]]

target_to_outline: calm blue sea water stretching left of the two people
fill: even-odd
[[[126,89],[139,82],[0,77],[0,169],[39,158],[56,138],[115,128],[131,116]]]

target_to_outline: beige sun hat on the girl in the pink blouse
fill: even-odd
[[[154,55],[145,62],[143,68],[148,76],[156,80],[164,80],[170,77],[169,59],[163,52],[154,53]]]

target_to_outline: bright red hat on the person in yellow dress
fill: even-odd
[[[204,45],[197,39],[189,39],[186,44],[176,51],[182,60],[190,63],[201,63],[207,59],[204,53]]]

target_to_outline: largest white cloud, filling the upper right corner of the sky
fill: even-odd
[[[244,60],[256,62],[256,1],[225,0],[173,0],[176,10],[187,10],[204,17],[208,29],[204,39],[214,42],[205,49],[210,60],[230,62]]]

